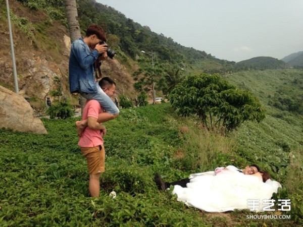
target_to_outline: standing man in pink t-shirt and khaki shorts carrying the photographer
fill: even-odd
[[[108,96],[115,94],[116,83],[112,79],[104,77],[99,81],[99,86]],[[106,134],[106,128],[102,123],[98,122],[98,116],[102,112],[102,106],[94,99],[86,102],[82,112],[82,122],[85,122],[87,127],[84,127],[78,145],[87,160],[89,173],[88,189],[91,197],[99,196],[99,178],[100,174],[105,172],[103,136]]]

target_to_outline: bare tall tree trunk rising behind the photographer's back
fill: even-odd
[[[71,43],[73,43],[73,41],[81,37],[76,0],[64,0],[64,7],[65,7],[65,15],[67,18]],[[85,101],[86,99],[80,95],[79,104],[81,107],[81,114],[83,111]]]

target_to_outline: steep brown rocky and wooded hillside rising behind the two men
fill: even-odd
[[[14,90],[6,4],[4,0],[0,0],[0,3],[0,28],[3,30],[0,38],[4,40],[0,43],[0,84]],[[161,96],[162,92],[165,94],[162,85],[167,83],[164,78],[173,70],[228,74],[247,69],[285,68],[278,60],[262,59],[263,57],[261,61],[249,60],[247,64],[235,65],[235,62],[217,59],[203,50],[182,46],[172,38],[157,34],[148,26],[141,26],[126,18],[112,7],[93,0],[81,0],[77,4],[82,34],[91,23],[101,24],[105,28],[108,44],[118,54],[113,61],[103,64],[103,73],[119,82],[119,94],[126,94],[131,98],[139,95],[139,91],[133,88],[136,83],[133,74],[152,71],[151,51],[154,54],[156,93]],[[77,97],[69,94],[67,85],[70,43],[63,1],[15,0],[10,2],[10,7],[14,42],[18,46],[15,51],[21,94],[29,96],[32,103],[44,103],[49,92],[56,89],[53,78],[59,76],[64,84],[65,96],[76,103]],[[141,50],[147,54],[143,54]],[[41,83],[43,86],[40,86]],[[151,85],[144,86],[150,99]]]

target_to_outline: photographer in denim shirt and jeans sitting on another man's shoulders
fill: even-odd
[[[106,41],[103,29],[98,25],[90,25],[86,35],[77,39],[71,46],[69,61],[69,84],[71,93],[80,93],[86,99],[95,99],[106,110],[100,113],[98,123],[115,119],[119,109],[112,99],[100,88],[94,76],[94,62],[100,54],[107,56],[107,44],[98,44]],[[76,124],[78,135],[86,127],[86,122]]]

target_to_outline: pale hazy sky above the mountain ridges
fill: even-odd
[[[303,50],[303,0],[97,0],[219,59],[282,59]]]

